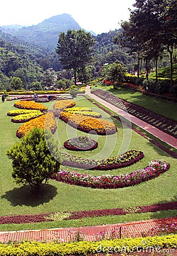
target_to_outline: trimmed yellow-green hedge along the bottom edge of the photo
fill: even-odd
[[[177,247],[177,234],[162,237],[124,238],[97,242],[80,241],[71,243],[11,242],[0,244],[0,256],[59,256],[88,255],[98,253],[129,253],[140,250],[160,252],[164,248]]]

